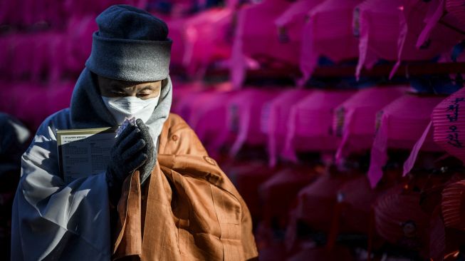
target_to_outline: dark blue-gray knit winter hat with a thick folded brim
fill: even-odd
[[[110,6],[95,21],[98,31],[85,62],[90,71],[123,81],[168,77],[172,41],[164,21],[127,5]]]

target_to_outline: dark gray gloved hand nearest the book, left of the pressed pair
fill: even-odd
[[[105,173],[108,194],[113,205],[116,205],[120,198],[125,178],[147,161],[148,156],[144,153],[146,145],[140,129],[132,124],[117,137],[110,151],[110,162]]]

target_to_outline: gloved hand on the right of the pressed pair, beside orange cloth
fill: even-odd
[[[137,119],[135,123],[137,124],[137,128],[140,129],[140,136],[145,140],[146,144],[142,152],[147,155],[147,161],[140,167],[140,183],[143,184],[152,173],[155,162],[157,161],[157,152],[155,151],[155,143],[152,140],[149,128],[141,119]]]

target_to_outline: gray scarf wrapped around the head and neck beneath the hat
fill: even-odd
[[[162,90],[157,107],[147,121],[152,139],[157,144],[164,122],[169,116],[172,103],[172,82],[162,81]],[[117,126],[115,118],[103,103],[98,88],[97,76],[84,68],[78,78],[71,97],[70,120],[72,128],[104,128]]]

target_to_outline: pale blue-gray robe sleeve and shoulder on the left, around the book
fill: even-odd
[[[11,260],[110,260],[105,173],[63,182],[56,128],[69,128],[69,113],[50,116],[21,159],[14,198]]]

